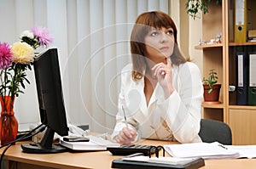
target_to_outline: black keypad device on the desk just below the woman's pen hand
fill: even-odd
[[[107,150],[112,155],[132,155],[135,153],[143,153],[143,155],[149,155],[150,145],[120,145],[119,147],[107,147]],[[155,148],[151,149],[151,155],[155,153]]]

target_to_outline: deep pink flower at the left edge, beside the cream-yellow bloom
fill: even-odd
[[[12,55],[9,44],[0,42],[0,69],[6,69],[12,65]]]

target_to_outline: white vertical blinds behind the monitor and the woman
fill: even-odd
[[[112,132],[120,71],[131,62],[129,38],[138,14],[170,14],[170,0],[0,0],[0,42],[19,41],[33,25],[47,27],[58,48],[67,121]],[[20,124],[39,121],[33,71],[15,101]]]

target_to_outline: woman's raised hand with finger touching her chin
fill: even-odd
[[[166,58],[166,64],[156,64],[152,70],[154,71],[154,76],[157,77],[157,81],[160,83],[160,86],[163,87],[166,98],[168,98],[174,91],[174,88],[172,87],[171,59]]]

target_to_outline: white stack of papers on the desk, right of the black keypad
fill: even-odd
[[[214,142],[195,144],[168,144],[164,145],[166,151],[177,158],[201,157],[203,159],[239,158],[239,151],[228,149],[223,144]]]

